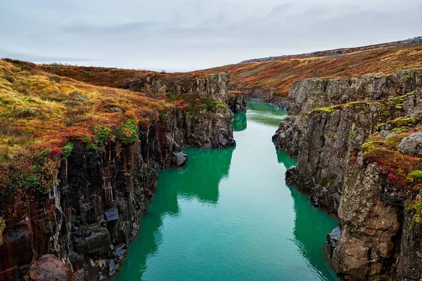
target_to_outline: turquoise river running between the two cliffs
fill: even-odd
[[[287,112],[248,103],[236,148],[186,149],[158,192],[115,280],[338,280],[324,256],[338,223],[284,180],[295,164],[271,142]]]

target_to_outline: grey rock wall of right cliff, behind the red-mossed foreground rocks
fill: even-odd
[[[348,159],[379,123],[418,112],[420,95],[404,94],[422,85],[421,76],[414,71],[295,82],[289,116],[273,138],[277,148],[298,158],[296,186],[311,194],[313,204],[337,214]],[[395,98],[385,99],[390,96]]]

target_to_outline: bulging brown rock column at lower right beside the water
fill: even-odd
[[[346,280],[376,280],[394,261],[401,209],[381,200],[384,181],[376,164],[357,164],[347,174],[338,209],[342,230],[332,257]]]

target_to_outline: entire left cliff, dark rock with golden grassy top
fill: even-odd
[[[235,145],[229,104],[242,109],[227,74],[148,74],[117,89],[0,67],[0,280],[113,275],[158,171],[184,165],[184,147]]]

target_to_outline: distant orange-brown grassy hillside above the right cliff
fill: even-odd
[[[346,54],[295,55],[268,62],[238,63],[204,70],[226,72],[238,89],[255,87],[274,91],[278,98],[287,96],[293,81],[314,78],[359,77],[368,73],[389,74],[397,70],[422,67],[422,45],[353,48]]]

